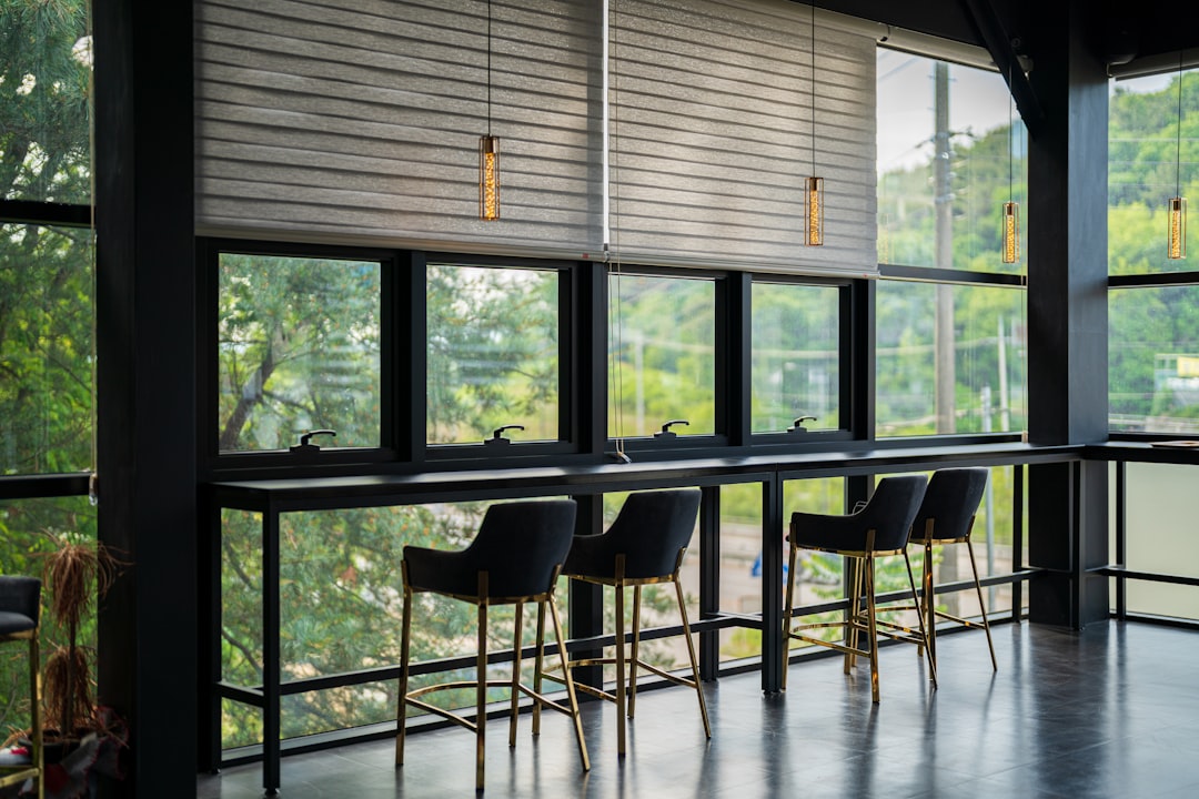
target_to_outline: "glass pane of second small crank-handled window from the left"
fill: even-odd
[[[428,441],[558,441],[558,272],[430,264]]]

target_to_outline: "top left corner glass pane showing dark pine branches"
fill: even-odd
[[[0,5],[0,198],[91,202],[90,5]]]

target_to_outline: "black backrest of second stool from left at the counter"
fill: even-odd
[[[674,573],[679,550],[691,543],[699,515],[699,489],[629,494],[608,527],[608,551],[625,555],[626,577]]]

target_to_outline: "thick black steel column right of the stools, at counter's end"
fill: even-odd
[[[1108,435],[1108,78],[1090,5],[1040,4],[1029,36],[1046,110],[1029,141],[1026,214],[1029,434],[1041,444]],[[1107,559],[1107,480],[1091,471],[1030,467],[1030,564],[1052,569],[1031,581],[1032,621],[1078,628],[1108,613],[1107,580],[1081,576]]]

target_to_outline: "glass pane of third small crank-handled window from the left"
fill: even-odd
[[[716,432],[716,284],[609,278],[608,436],[649,436],[671,419],[680,436]]]

